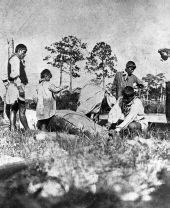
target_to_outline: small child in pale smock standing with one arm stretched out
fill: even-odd
[[[41,72],[41,80],[37,88],[37,127],[42,131],[47,131],[50,119],[56,113],[56,100],[53,93],[58,93],[67,88],[56,87],[50,82],[52,74],[50,70],[44,69]]]

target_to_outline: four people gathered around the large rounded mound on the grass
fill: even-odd
[[[25,71],[24,57],[27,47],[19,44],[15,48],[15,53],[8,60],[7,76],[3,78],[6,87],[6,115],[10,121],[10,130],[16,129],[16,115],[19,111],[19,118],[25,130],[29,129],[25,103],[25,86],[28,78]],[[134,74],[136,65],[133,61],[128,61],[124,71],[117,72],[113,81],[112,90],[116,90],[116,104],[112,107],[108,115],[108,129],[115,129],[119,132],[128,128],[129,130],[145,130],[148,126],[144,114],[144,107],[141,100],[135,96],[134,84],[143,87],[142,81]],[[57,87],[51,84],[52,74],[48,69],[44,69],[40,75],[40,81],[36,96],[37,126],[46,131],[50,118],[55,115],[56,102],[55,94],[65,87]]]

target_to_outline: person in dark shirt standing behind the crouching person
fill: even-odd
[[[116,99],[122,95],[122,90],[126,86],[133,87],[136,84],[139,88],[142,88],[143,82],[138,79],[134,74],[136,64],[133,61],[128,61],[125,71],[117,72],[112,85],[112,92],[116,89]]]

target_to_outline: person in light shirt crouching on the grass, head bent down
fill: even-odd
[[[133,87],[126,86],[116,104],[109,112],[107,127],[113,127],[116,132],[128,128],[130,132],[145,131],[148,122],[145,118],[144,107],[135,96]]]

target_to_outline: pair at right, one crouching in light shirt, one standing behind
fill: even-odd
[[[113,81],[117,102],[109,112],[107,128],[116,132],[146,131],[148,127],[144,106],[134,91],[134,85],[143,87],[142,81],[133,74],[135,69],[135,63],[128,61],[125,71],[117,72]]]

